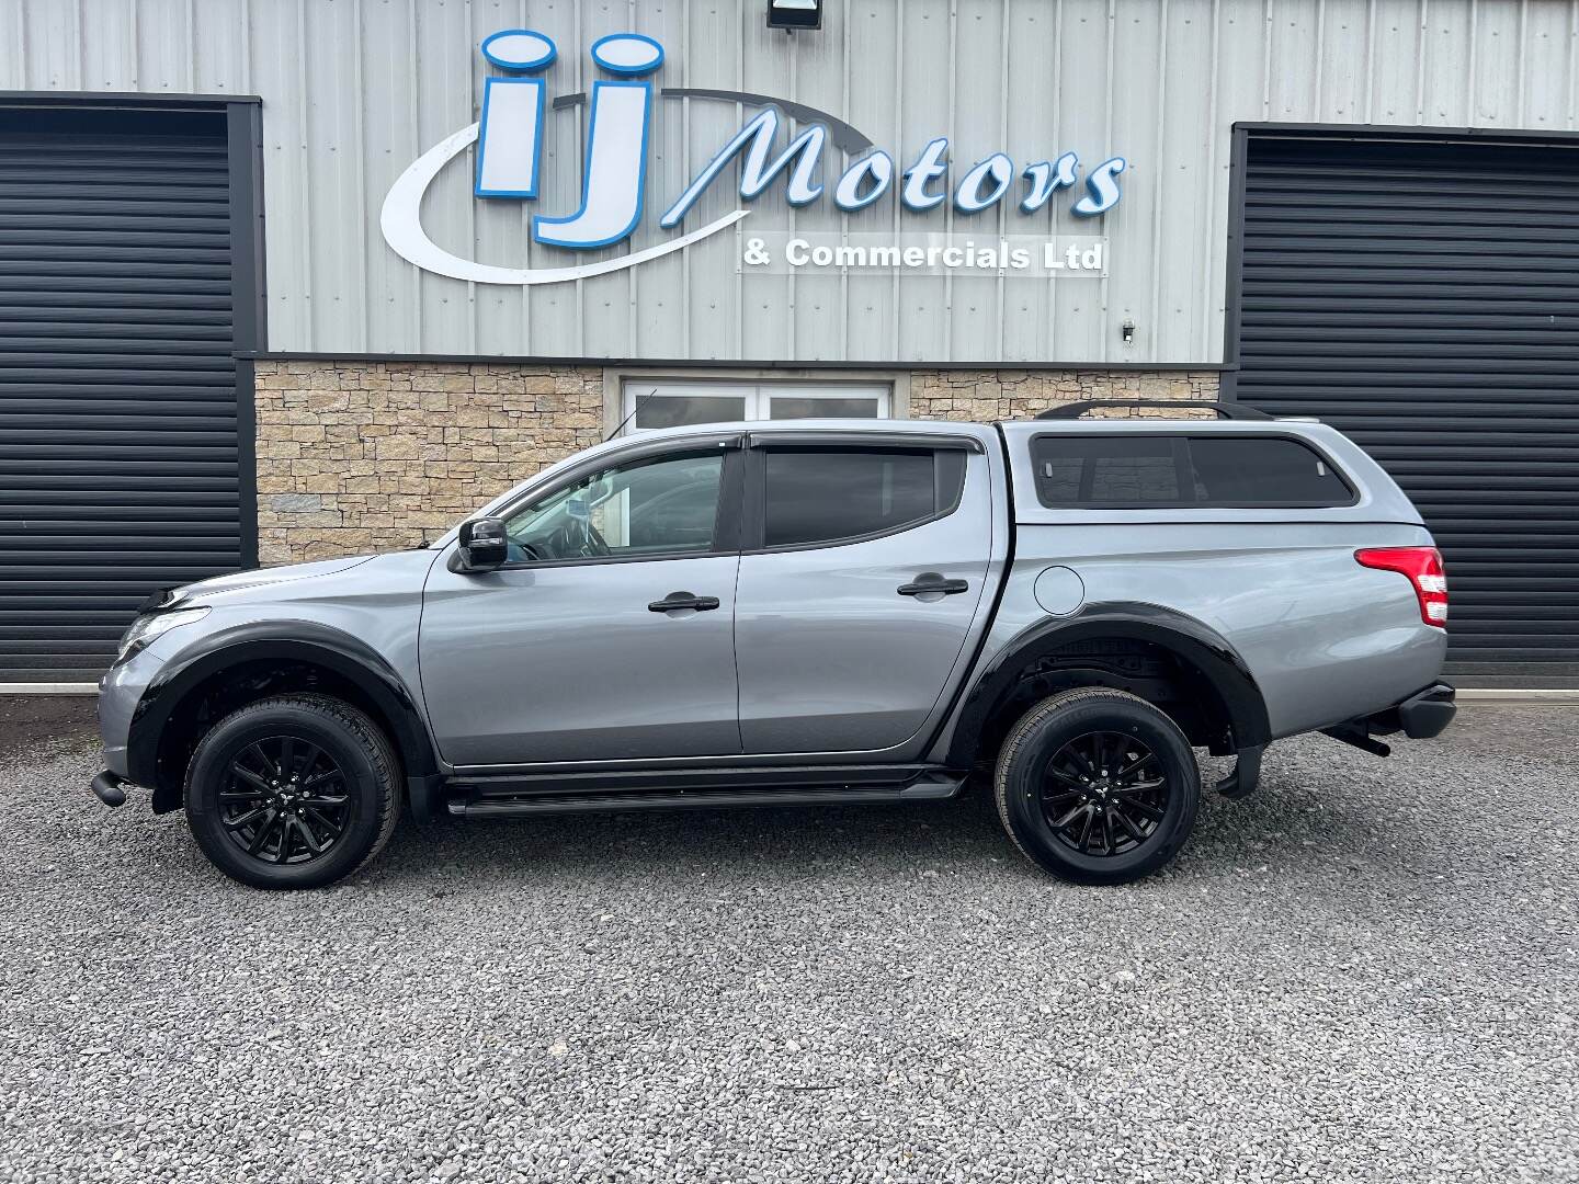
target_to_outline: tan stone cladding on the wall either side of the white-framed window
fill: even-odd
[[[262,564],[417,546],[603,439],[600,366],[259,362],[256,376]],[[1216,395],[1214,373],[914,371],[910,414],[1007,420],[1071,399]]]

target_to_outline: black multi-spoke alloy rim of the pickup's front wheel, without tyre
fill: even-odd
[[[355,802],[333,756],[305,736],[265,736],[231,758],[219,821],[265,864],[305,864],[346,834]]]

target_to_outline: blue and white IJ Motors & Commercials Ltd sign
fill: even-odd
[[[567,253],[602,251],[627,242],[643,218],[647,156],[655,107],[652,76],[663,65],[663,46],[639,33],[614,33],[592,44],[592,60],[611,79],[592,84],[581,204],[578,208],[532,215],[532,240]],[[769,189],[782,189],[793,207],[832,202],[845,212],[864,210],[889,197],[913,215],[906,219],[938,219],[935,230],[894,235],[769,235],[745,237],[742,272],[900,272],[917,275],[1104,275],[1107,243],[1101,238],[1047,238],[1007,235],[962,238],[941,232],[947,207],[962,215],[1007,207],[1015,216],[1031,216],[1050,202],[1066,200],[1080,218],[1113,208],[1124,159],[1110,156],[1082,172],[1080,159],[1066,152],[1056,159],[1017,166],[995,152],[952,180],[949,139],[935,137],[908,163],[873,145],[850,125],[826,112],[788,99],[734,90],[665,88],[665,98],[715,99],[759,107],[712,159],[657,215],[669,230],[663,242],[611,259],[568,262],[564,267],[507,267],[463,259],[445,251],[422,227],[422,199],[439,172],[472,144],[477,170],[472,191],[483,200],[535,202],[542,183],[543,117],[548,85],[534,73],[556,57],[554,43],[526,28],[510,28],[486,38],[482,54],[501,69],[483,85],[482,118],[461,128],[414,161],[390,186],[381,226],[385,242],[404,259],[437,275],[480,284],[557,284],[586,279],[660,259],[725,230],[750,215],[744,207],[704,226],[687,227],[687,215],[701,196],[731,167],[737,170],[742,202]],[[578,99],[583,96],[576,96]],[[557,111],[559,103],[554,104]],[[804,128],[788,137],[788,120]],[[780,144],[785,128],[788,141]],[[834,152],[853,156],[832,175],[824,158]],[[832,166],[832,159],[829,159]],[[1042,215],[1045,218],[1045,215]],[[742,227],[744,229],[744,227]]]

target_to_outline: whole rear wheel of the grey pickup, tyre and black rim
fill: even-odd
[[[1200,767],[1167,715],[1091,687],[1042,699],[1011,729],[993,777],[1015,846],[1075,884],[1123,884],[1178,854]]]

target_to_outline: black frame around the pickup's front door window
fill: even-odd
[[[662,564],[671,559],[707,559],[715,556],[733,556],[741,553],[742,527],[742,485],[745,480],[744,437],[741,433],[714,433],[693,436],[688,439],[660,437],[643,440],[636,437],[632,447],[617,451],[591,456],[584,464],[565,472],[559,480],[535,489],[524,491],[513,502],[499,507],[491,518],[508,519],[535,502],[542,502],[570,486],[595,477],[609,469],[622,469],[627,464],[641,461],[658,464],[684,456],[711,456],[714,451],[723,453],[723,467],[718,474],[718,510],[714,516],[712,546],[693,551],[662,551],[630,556],[576,556],[573,559],[518,559],[501,564],[494,571],[538,571],[554,567],[608,567],[614,564]],[[450,565],[459,559],[459,549],[450,557]]]

